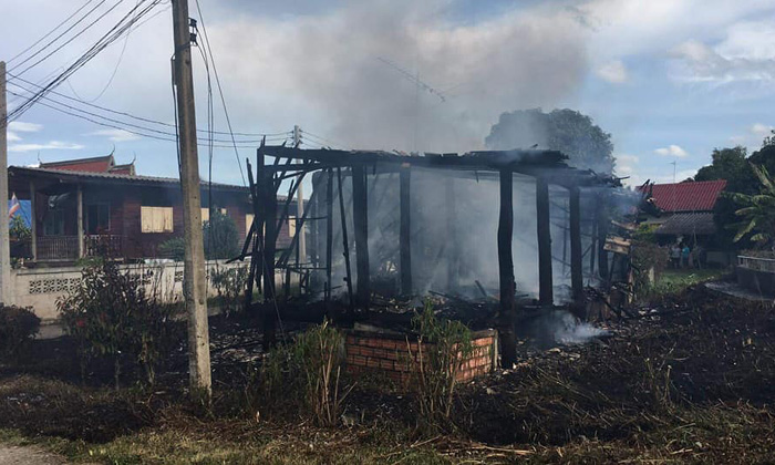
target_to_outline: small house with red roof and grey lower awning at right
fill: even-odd
[[[639,187],[638,190],[659,211],[659,215],[650,215],[643,224],[659,225],[655,234],[665,242],[707,242],[716,234],[713,208],[725,187],[724,179]]]

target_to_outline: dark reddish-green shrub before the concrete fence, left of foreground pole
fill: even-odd
[[[148,297],[140,276],[103,260],[84,268],[80,285],[58,299],[56,307],[79,343],[83,370],[90,359],[111,358],[118,388],[122,361],[128,359],[143,366],[153,384],[155,364],[175,340],[174,308]]]

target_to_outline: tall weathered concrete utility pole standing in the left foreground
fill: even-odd
[[[183,189],[183,237],[186,242],[183,289],[188,311],[188,371],[192,394],[211,394],[210,344],[207,329],[207,281],[205,241],[202,232],[199,158],[196,146],[194,79],[188,0],[173,0],[175,65],[173,81],[177,96]]]

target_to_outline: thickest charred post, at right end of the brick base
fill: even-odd
[[[509,169],[500,170],[500,213],[498,216],[498,279],[500,282],[500,314],[498,334],[500,337],[502,364],[512,368],[517,361],[517,341],[514,334],[516,307],[514,296],[514,178]]]

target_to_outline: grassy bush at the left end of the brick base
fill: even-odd
[[[250,375],[248,409],[301,412],[321,426],[335,425],[349,393],[340,386],[343,347],[342,334],[323,321],[292,343],[272,349],[261,369]]]

